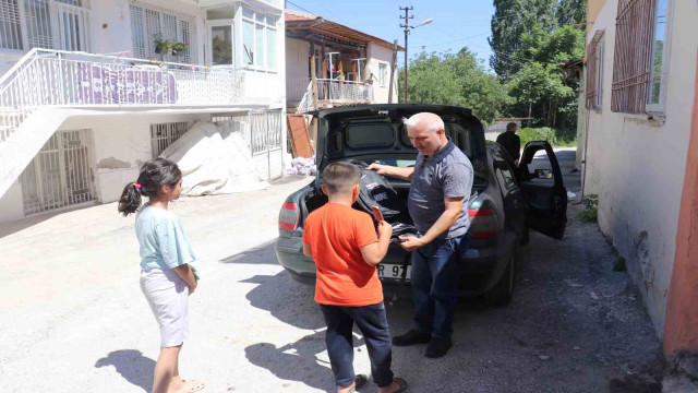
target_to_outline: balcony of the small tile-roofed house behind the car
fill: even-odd
[[[300,86],[305,84],[304,88]],[[317,108],[313,105],[313,83],[310,79],[289,81],[288,100],[299,100],[299,112],[352,104],[373,103],[373,85],[364,82],[317,79]]]

